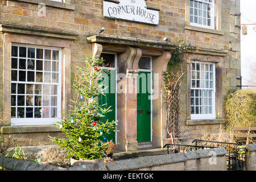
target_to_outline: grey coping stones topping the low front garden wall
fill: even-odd
[[[131,169],[160,166],[164,164],[185,162],[187,160],[202,159],[228,154],[225,148],[188,151],[177,154],[144,156],[135,159],[117,160],[111,163],[88,164],[78,167],[61,168],[51,165],[38,164],[27,160],[5,158],[4,167],[16,171],[126,171]],[[0,157],[0,163],[2,158]]]

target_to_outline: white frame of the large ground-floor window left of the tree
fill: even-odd
[[[28,81],[11,81],[11,84],[39,84],[39,85],[57,85],[57,114],[55,118],[26,118],[26,113],[24,113],[24,118],[11,118],[11,126],[31,126],[31,125],[53,125],[56,122],[60,121],[61,118],[61,48],[56,48],[56,47],[46,47],[46,46],[32,46],[32,45],[28,45],[28,44],[12,44],[11,46],[18,46],[18,47],[27,47],[27,48],[40,48],[40,49],[51,49],[54,51],[59,51],[59,82],[53,83],[53,82],[28,82]],[[52,52],[52,51],[51,51]],[[19,59],[19,48],[18,48],[18,57],[13,57],[12,58],[18,58]],[[22,57],[22,59],[24,59],[24,57]],[[26,55],[26,59],[28,58],[28,55]],[[35,59],[34,60],[44,60],[44,54],[43,54],[43,59],[36,59],[36,51],[35,51]],[[44,63],[44,62],[43,62]],[[18,67],[19,64],[17,64]],[[43,64],[44,67],[44,64]],[[19,67],[17,68],[17,70],[19,69]],[[51,54],[51,69],[52,69],[52,54]],[[11,68],[11,70],[15,70],[13,68]],[[27,71],[28,69],[26,68],[26,77],[27,77]],[[35,61],[35,70],[36,72],[36,61]],[[44,73],[44,70],[42,71]],[[52,71],[51,71],[52,72]],[[43,74],[44,76],[44,74]],[[36,78],[36,77],[35,77]],[[51,77],[52,79],[52,77]],[[17,80],[18,80],[18,73],[17,73]],[[24,96],[25,96],[25,103],[24,106],[20,106],[20,107],[24,107],[26,110],[26,89],[24,91]],[[10,93],[10,96],[13,95],[18,95],[18,93],[12,94]],[[23,94],[21,94],[23,95]],[[30,94],[32,96],[35,96],[36,94],[33,92],[33,94]],[[43,94],[41,94],[43,96]],[[17,105],[18,102],[18,97],[16,97],[16,106],[15,107],[19,107]],[[34,99],[35,102],[35,99]],[[42,99],[42,107],[43,107],[43,99]],[[51,97],[49,99],[49,102],[51,102]],[[11,106],[14,107],[14,106]],[[33,107],[35,108],[35,106],[29,106],[29,107]],[[48,106],[49,108],[51,108],[51,104],[49,104]],[[34,110],[34,109],[33,109]],[[16,110],[16,117],[17,117],[17,110]],[[33,111],[34,113],[34,111]],[[33,116],[34,117],[34,116]]]

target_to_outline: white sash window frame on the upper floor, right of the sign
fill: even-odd
[[[194,22],[191,22],[190,20],[190,16],[191,16],[191,6],[190,6],[190,1],[197,1],[197,2],[201,2],[201,3],[207,3],[207,4],[210,4],[211,5],[211,8],[210,8],[210,26],[208,26],[208,22],[206,25],[204,24],[199,24],[199,19],[197,19],[197,23],[194,23]],[[203,8],[203,7],[202,7]],[[197,5],[197,9],[199,9],[199,5]],[[193,9],[194,11],[194,9]],[[194,17],[194,16],[193,16]],[[199,17],[199,12],[197,12],[197,17]],[[202,16],[200,17],[203,17],[203,11],[202,11]],[[202,27],[202,28],[210,28],[210,29],[215,29],[215,0],[212,0],[212,3],[210,2],[205,2],[204,0],[189,0],[189,23],[191,26],[195,26],[195,27]],[[203,18],[202,18],[202,23],[203,23]]]

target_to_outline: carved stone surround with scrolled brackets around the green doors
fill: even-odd
[[[113,49],[112,49],[113,48]],[[117,50],[119,50],[117,52]],[[118,46],[117,44],[92,43],[92,55],[100,56],[101,52],[117,53],[117,73],[126,75],[122,78],[123,90],[128,90],[133,86],[133,92],[117,94],[117,119],[118,130],[117,140],[120,142],[118,150],[133,151],[138,150],[137,142],[137,74],[138,63],[141,56],[152,57],[152,71],[158,76],[158,82],[154,83],[153,90],[158,97],[152,100],[152,146],[163,147],[163,138],[166,136],[165,121],[162,116],[165,109],[164,80],[163,73],[166,72],[168,61],[171,59],[171,52],[154,48],[139,48],[131,46]],[[120,84],[120,83],[119,83]],[[158,84],[158,85],[156,85]]]

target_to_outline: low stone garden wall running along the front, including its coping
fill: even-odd
[[[26,160],[7,158],[4,160],[4,167],[20,171],[226,171],[227,153],[224,148],[213,148],[70,168],[39,165]]]

